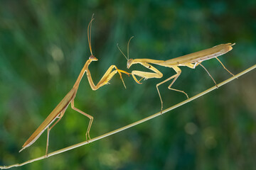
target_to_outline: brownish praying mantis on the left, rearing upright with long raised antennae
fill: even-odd
[[[50,133],[50,130],[54,127],[54,125],[56,125],[60,121],[60,119],[63,117],[66,109],[68,108],[68,106],[70,104],[71,104],[71,108],[73,110],[78,111],[79,113],[81,113],[82,115],[85,115],[87,118],[90,119],[89,125],[87,127],[87,132],[85,134],[86,140],[87,140],[87,137],[90,140],[90,128],[91,128],[91,125],[92,125],[93,117],[92,117],[92,115],[88,115],[87,113],[84,113],[83,111],[80,111],[78,108],[75,108],[75,104],[74,104],[74,99],[75,99],[75,96],[77,94],[78,87],[79,87],[79,84],[80,84],[80,81],[81,81],[83,75],[86,72],[87,79],[89,81],[90,87],[94,91],[99,89],[101,86],[109,84],[110,79],[112,79],[114,74],[117,74],[117,72],[119,73],[121,79],[122,79],[122,73],[129,75],[127,72],[124,72],[121,69],[117,69],[117,67],[115,65],[112,65],[112,66],[110,66],[109,69],[107,69],[107,72],[105,72],[105,74],[103,75],[102,79],[100,79],[100,81],[98,82],[98,84],[96,86],[93,83],[92,77],[91,77],[91,74],[90,74],[90,70],[88,68],[91,62],[97,61],[97,58],[94,55],[92,55],[92,46],[91,46],[91,27],[92,27],[92,21],[93,20],[94,20],[94,18],[92,16],[92,19],[91,19],[91,21],[90,21],[90,23],[88,25],[88,28],[87,28],[88,44],[89,44],[90,53],[91,53],[91,55],[89,57],[89,60],[87,60],[87,62],[85,62],[84,67],[82,67],[82,70],[81,70],[81,72],[80,72],[80,74],[78,76],[78,79],[75,81],[75,84],[74,84],[73,88],[63,98],[63,100],[60,101],[60,103],[58,103],[58,106],[56,106],[53,109],[53,111],[50,113],[50,115],[48,115],[46,120],[44,120],[43,123],[41,123],[41,125],[36,129],[36,131],[33,132],[31,137],[29,137],[28,140],[24,143],[24,145],[22,146],[22,149],[19,152],[21,152],[23,149],[26,149],[27,147],[31,146],[34,142],[36,142],[38,137],[40,137],[41,134],[47,129],[46,157],[48,157],[48,144],[49,144],[49,133]],[[112,71],[112,69],[115,69],[115,70]],[[124,84],[123,79],[122,79],[122,82]],[[124,87],[126,88],[125,84],[124,84]],[[50,125],[54,121],[55,121],[55,123],[50,127]]]

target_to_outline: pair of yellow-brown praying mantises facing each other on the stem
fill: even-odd
[[[91,55],[89,57],[89,60],[87,60],[87,62],[85,62],[84,67],[82,67],[82,70],[81,70],[81,72],[78,76],[77,81],[75,81],[75,84],[74,84],[73,88],[63,98],[63,100],[60,101],[60,103],[58,103],[58,106],[56,106],[53,109],[53,111],[50,113],[50,115],[48,115],[46,120],[44,120],[43,123],[41,123],[41,125],[36,129],[36,131],[33,132],[31,137],[29,137],[28,140],[24,143],[24,145],[22,146],[22,149],[19,152],[21,152],[23,149],[26,149],[27,147],[31,146],[34,142],[36,142],[38,137],[40,137],[41,134],[47,129],[47,143],[46,143],[46,157],[47,157],[48,156],[48,143],[49,143],[50,130],[53,128],[54,125],[56,125],[60,121],[60,119],[63,117],[66,109],[68,108],[68,106],[70,104],[71,104],[71,108],[73,110],[78,111],[79,113],[81,113],[82,115],[85,115],[87,118],[90,119],[89,125],[87,127],[87,132],[85,134],[86,140],[87,140],[87,138],[90,139],[90,128],[91,128],[91,125],[92,125],[93,117],[92,117],[92,115],[88,115],[87,113],[84,113],[83,111],[80,111],[78,108],[75,108],[75,104],[74,104],[74,99],[75,99],[75,96],[78,92],[78,87],[79,87],[80,81],[81,81],[82,77],[84,76],[85,72],[87,74],[87,79],[89,81],[89,84],[90,84],[92,90],[95,91],[95,90],[99,89],[101,86],[109,84],[110,79],[112,79],[112,77],[114,77],[114,74],[117,74],[117,73],[119,74],[121,79],[122,79],[122,73],[127,74],[127,75],[132,74],[132,77],[134,78],[134,80],[138,84],[141,84],[140,81],[143,78],[144,79],[151,79],[151,78],[160,79],[161,77],[163,77],[163,74],[161,72],[159,72],[158,69],[151,66],[151,64],[157,64],[157,65],[160,65],[160,66],[170,67],[170,68],[174,69],[174,71],[176,72],[175,75],[169,77],[168,79],[166,79],[164,81],[161,81],[159,84],[156,84],[156,89],[158,91],[159,98],[160,98],[160,101],[161,101],[161,111],[162,111],[163,101],[161,99],[161,94],[159,92],[158,86],[160,86],[161,84],[164,84],[166,81],[170,81],[171,79],[174,79],[173,81],[171,81],[171,84],[169,85],[168,88],[171,89],[171,90],[179,91],[183,94],[186,94],[184,91],[171,88],[171,86],[174,84],[174,81],[176,81],[176,79],[181,74],[181,69],[179,68],[179,66],[186,66],[186,67],[189,67],[191,69],[195,69],[200,64],[203,67],[201,62],[203,62],[205,60],[210,60],[212,58],[216,58],[218,60],[218,58],[217,58],[218,56],[224,55],[226,52],[229,52],[230,50],[232,50],[232,46],[235,45],[235,43],[234,44],[231,44],[231,43],[220,44],[220,45],[216,45],[216,46],[211,47],[211,48],[206,49],[206,50],[201,50],[199,52],[193,52],[189,55],[183,55],[181,57],[176,57],[174,59],[166,60],[166,61],[151,60],[151,59],[134,59],[133,60],[133,59],[129,59],[129,42],[132,39],[132,38],[130,38],[130,40],[127,44],[127,57],[128,58],[119,49],[122,52],[122,54],[124,55],[124,57],[127,58],[127,69],[129,69],[129,67],[131,67],[132,64],[142,64],[142,66],[144,66],[148,69],[151,69],[153,72],[142,72],[142,71],[134,70],[134,71],[132,71],[132,73],[128,73],[128,72],[125,72],[121,69],[117,69],[117,67],[115,65],[112,65],[112,66],[110,66],[109,69],[107,69],[107,72],[105,72],[102,79],[100,79],[98,84],[95,86],[95,84],[92,81],[90,70],[88,68],[91,62],[97,61],[97,58],[94,55],[92,55],[92,46],[91,46],[91,26],[92,26],[93,19],[94,18],[92,16],[92,19],[91,19],[91,21],[90,21],[90,23],[87,27],[87,37],[88,37],[88,43],[89,43],[90,53],[91,53]],[[118,45],[117,45],[117,47],[118,47]],[[220,62],[220,60],[218,60],[218,61]],[[222,64],[222,63],[220,62],[220,64]],[[223,64],[222,64],[222,66],[224,67],[224,69],[226,69]],[[206,69],[205,67],[203,67],[203,68]],[[113,69],[115,69],[115,70],[112,71]],[[226,69],[226,70],[228,71],[228,69]],[[206,72],[207,72],[207,70],[206,70]],[[231,72],[229,72],[229,73],[232,74]],[[208,72],[208,74],[209,74],[209,72]],[[142,79],[140,79],[138,81],[135,76],[142,77]],[[210,76],[210,74],[209,74],[209,76]],[[211,77],[211,79],[213,79],[213,77]],[[214,79],[213,79],[213,81],[214,81]],[[124,84],[123,79],[122,79],[122,82]],[[215,83],[215,81],[214,81],[214,83]],[[215,83],[215,85],[217,86],[216,83]],[[124,84],[124,87],[125,87],[125,84]],[[187,94],[186,94],[186,97],[188,98]],[[55,122],[55,123],[53,123],[53,122]],[[52,123],[53,123],[53,125],[51,125]]]

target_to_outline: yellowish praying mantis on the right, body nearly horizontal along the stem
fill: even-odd
[[[132,40],[132,38],[129,39],[129,42],[130,42],[130,40]],[[140,83],[140,81],[143,78],[144,79],[151,79],[151,78],[160,79],[161,77],[163,77],[163,74],[161,72],[159,72],[158,69],[151,66],[151,64],[157,64],[160,66],[169,67],[169,68],[174,69],[174,71],[176,72],[176,74],[174,74],[173,76],[169,77],[168,79],[166,79],[164,81],[161,81],[159,84],[156,84],[156,89],[157,89],[157,92],[159,94],[159,98],[161,101],[161,113],[163,111],[163,101],[161,99],[161,94],[159,91],[159,86],[161,84],[164,84],[165,82],[170,81],[171,79],[174,79],[173,81],[171,81],[171,84],[168,86],[168,89],[181,92],[181,93],[185,94],[186,97],[188,98],[188,94],[186,94],[184,91],[171,88],[171,86],[174,84],[176,79],[178,79],[178,77],[181,75],[181,69],[179,68],[180,66],[186,66],[191,69],[195,69],[198,65],[201,65],[203,67],[201,62],[203,62],[205,60],[210,60],[212,58],[215,58],[218,60],[218,62],[220,62],[220,60],[218,59],[218,56],[224,55],[225,53],[229,52],[230,50],[233,49],[232,46],[235,45],[235,43],[220,44],[220,45],[216,45],[214,47],[208,48],[206,50],[193,52],[188,55],[183,55],[181,57],[176,57],[174,59],[164,61],[164,60],[152,60],[152,59],[129,59],[129,42],[127,44],[127,57],[124,55],[124,53],[122,52],[122,50],[119,48],[119,46],[117,44],[117,47],[119,48],[120,52],[122,52],[122,55],[124,55],[124,57],[127,59],[127,69],[129,69],[129,67],[131,67],[132,64],[142,64],[142,66],[146,67],[147,69],[151,69],[153,71],[153,72],[142,72],[142,71],[133,70],[132,73],[130,73],[130,74],[132,74],[132,77],[138,84],[142,84],[142,83]],[[223,66],[223,68],[225,70],[228,71],[228,69],[226,69],[226,67],[223,65],[222,62],[220,62],[220,64]],[[210,76],[210,78],[213,79],[213,77],[210,75],[210,73],[207,71],[207,69],[205,67],[203,67],[203,69],[205,69],[206,72],[208,73],[208,75]],[[234,76],[234,74],[232,74],[230,71],[228,71],[228,72]],[[138,81],[137,78],[135,77],[135,75],[138,77],[142,77],[142,79],[140,79]],[[213,79],[213,81],[214,81],[215,85],[217,86],[214,79]],[[218,88],[218,86],[217,86],[217,88]]]

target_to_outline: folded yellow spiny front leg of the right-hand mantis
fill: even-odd
[[[142,64],[142,66],[146,67],[147,69],[151,69],[154,73],[152,72],[142,72],[142,71],[137,71],[134,70],[132,71],[132,77],[134,78],[134,80],[138,83],[138,84],[142,84],[139,81],[141,81],[143,78],[144,79],[151,79],[151,78],[158,78],[160,79],[161,77],[163,77],[163,74],[161,72],[159,72],[158,69],[156,69],[155,67],[151,66],[149,63],[147,62],[140,62],[139,64]],[[142,77],[142,79],[140,79],[139,81],[137,80],[137,78],[135,77]]]

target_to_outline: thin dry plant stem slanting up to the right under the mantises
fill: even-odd
[[[239,74],[236,74],[234,77],[231,77],[230,79],[227,79],[227,80],[221,82],[220,84],[218,84],[218,87],[223,86],[224,84],[227,84],[227,83],[230,82],[230,81],[233,81],[233,79],[237,79],[238,77],[242,76],[243,74],[245,74],[245,73],[247,73],[247,72],[250,72],[252,69],[255,69],[255,68],[256,68],[256,64],[255,64],[254,66],[248,68],[248,69],[245,69],[245,71],[240,72]],[[161,115],[161,114],[164,114],[164,113],[166,113],[166,112],[169,112],[169,111],[171,111],[171,110],[174,110],[174,108],[178,108],[178,107],[182,106],[183,104],[186,104],[186,103],[188,103],[188,102],[190,102],[190,101],[193,101],[193,100],[195,100],[196,98],[198,98],[198,97],[200,97],[200,96],[203,96],[204,94],[208,94],[210,91],[213,91],[214,89],[217,89],[217,87],[216,87],[216,86],[213,86],[213,87],[211,87],[210,89],[207,89],[206,91],[203,91],[203,92],[201,92],[200,94],[197,94],[196,96],[193,96],[193,97],[191,97],[191,98],[188,98],[186,101],[182,101],[181,103],[178,103],[178,104],[176,104],[176,105],[174,105],[174,106],[171,106],[170,108],[166,108],[162,113],[161,113],[161,112],[156,113],[156,114],[151,115],[151,116],[149,116],[149,117],[147,117],[147,118],[144,118],[144,119],[142,119],[142,120],[139,120],[139,121],[137,121],[137,122],[135,122],[135,123],[126,125],[126,126],[124,126],[124,127],[122,127],[122,128],[119,128],[119,129],[117,129],[117,130],[113,130],[112,132],[108,132],[108,133],[105,133],[104,135],[95,137],[95,138],[93,138],[92,140],[88,140],[88,141],[85,141],[85,142],[80,142],[80,143],[78,143],[78,144],[76,144],[76,145],[72,145],[72,146],[70,146],[70,147],[65,147],[65,148],[59,149],[59,150],[57,150],[57,151],[55,151],[55,152],[51,152],[50,154],[48,154],[48,157],[51,157],[51,156],[53,156],[53,155],[55,155],[55,154],[60,154],[60,153],[66,152],[66,151],[71,150],[71,149],[75,149],[75,148],[77,148],[77,147],[81,147],[81,146],[86,145],[86,144],[88,144],[88,143],[90,143],[90,142],[95,142],[96,140],[100,140],[100,139],[102,139],[102,138],[104,138],[104,137],[108,137],[108,136],[110,136],[110,135],[114,135],[115,133],[121,132],[122,130],[126,130],[126,129],[128,129],[128,128],[132,128],[132,127],[135,126],[135,125],[138,125],[138,124],[140,124],[140,123],[144,123],[144,122],[146,122],[147,120],[151,120],[152,118],[155,118],[155,117],[157,117],[157,116],[159,116],[159,115]],[[15,166],[23,166],[23,165],[25,165],[25,164],[29,164],[29,163],[31,163],[31,162],[36,162],[36,161],[38,161],[38,160],[45,159],[45,158],[46,158],[46,156],[43,156],[43,157],[38,157],[38,158],[36,158],[36,159],[31,159],[31,160],[29,160],[29,161],[27,161],[27,162],[23,162],[23,163],[21,163],[21,164],[13,164],[13,165],[10,165],[10,166],[0,166],[0,169],[9,169],[9,168],[15,167]]]

